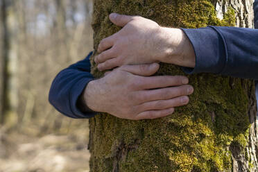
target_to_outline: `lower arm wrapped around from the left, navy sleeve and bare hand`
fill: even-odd
[[[90,118],[107,112],[122,119],[155,119],[187,105],[193,87],[184,76],[151,76],[159,65],[124,65],[93,80],[89,56],[55,77],[50,103],[71,118]],[[86,107],[86,108],[85,108]]]

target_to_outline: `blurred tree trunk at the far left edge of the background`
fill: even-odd
[[[3,22],[3,107],[1,122],[16,123],[17,121],[17,19],[15,1],[1,1]],[[7,119],[8,118],[8,119]]]

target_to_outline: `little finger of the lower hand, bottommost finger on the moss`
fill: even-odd
[[[169,108],[167,110],[151,110],[146,112],[141,112],[135,117],[135,120],[141,120],[141,119],[157,119],[169,116],[169,114],[172,114],[175,111],[174,108]]]

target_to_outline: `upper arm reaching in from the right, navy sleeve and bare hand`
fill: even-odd
[[[256,10],[257,6],[256,1]],[[258,79],[258,30],[216,26],[180,30],[117,14],[111,14],[110,20],[123,28],[98,46],[95,62],[102,71],[125,64],[166,62],[189,67],[184,68],[188,74]]]

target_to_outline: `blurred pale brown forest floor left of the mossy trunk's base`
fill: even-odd
[[[88,172],[86,132],[31,136],[0,129],[0,172]]]

